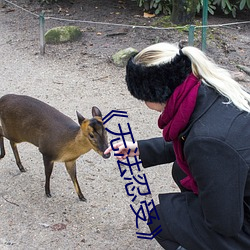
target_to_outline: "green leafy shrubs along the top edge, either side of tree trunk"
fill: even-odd
[[[48,1],[48,0],[47,0]],[[170,15],[172,3],[174,0],[133,0],[136,1],[139,7],[143,7],[146,11],[154,11],[156,15],[163,13]],[[193,1],[193,0],[187,0]],[[204,0],[199,0],[197,4],[197,13],[200,13],[203,7]],[[224,14],[231,14],[236,17],[236,12],[243,9],[250,9],[250,0],[208,0],[208,12],[214,15],[217,7],[220,7]]]

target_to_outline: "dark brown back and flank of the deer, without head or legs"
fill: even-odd
[[[79,128],[57,109],[24,95],[1,97],[0,119],[6,138],[15,142],[27,141],[38,147],[41,143],[68,141]]]

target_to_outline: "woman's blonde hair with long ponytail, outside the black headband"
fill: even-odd
[[[181,52],[190,59],[193,74],[228,99],[225,104],[233,103],[238,109],[250,113],[250,94],[231,77],[227,70],[215,64],[195,47],[187,46],[180,51],[177,44],[157,43],[138,53],[134,62],[145,66],[160,65],[170,62]]]

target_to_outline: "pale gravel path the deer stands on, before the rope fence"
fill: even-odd
[[[104,115],[116,108],[126,110],[135,139],[160,136],[158,114],[129,95],[124,69],[101,53],[86,53],[81,43],[51,46],[42,57],[36,27],[35,18],[0,9],[1,95],[39,98],[74,120],[76,110],[90,117],[93,105]],[[118,122],[115,118],[108,127],[117,129]],[[104,160],[91,151],[78,159],[85,203],[78,200],[63,164],[55,165],[49,199],[44,195],[44,167],[37,148],[19,145],[27,170],[20,173],[7,140],[5,145],[6,156],[0,162],[0,249],[160,249],[155,240],[136,237],[131,199],[113,157]],[[156,204],[158,193],[176,190],[170,167],[144,173],[152,193],[147,199]],[[143,221],[139,229],[149,232]]]

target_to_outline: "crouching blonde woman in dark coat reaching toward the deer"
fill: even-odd
[[[145,168],[173,162],[181,190],[159,195],[160,221],[149,225],[162,226],[157,241],[169,250],[250,249],[249,93],[199,49],[168,43],[132,57],[126,83],[161,112],[163,138],[117,143],[119,159],[138,147]]]

